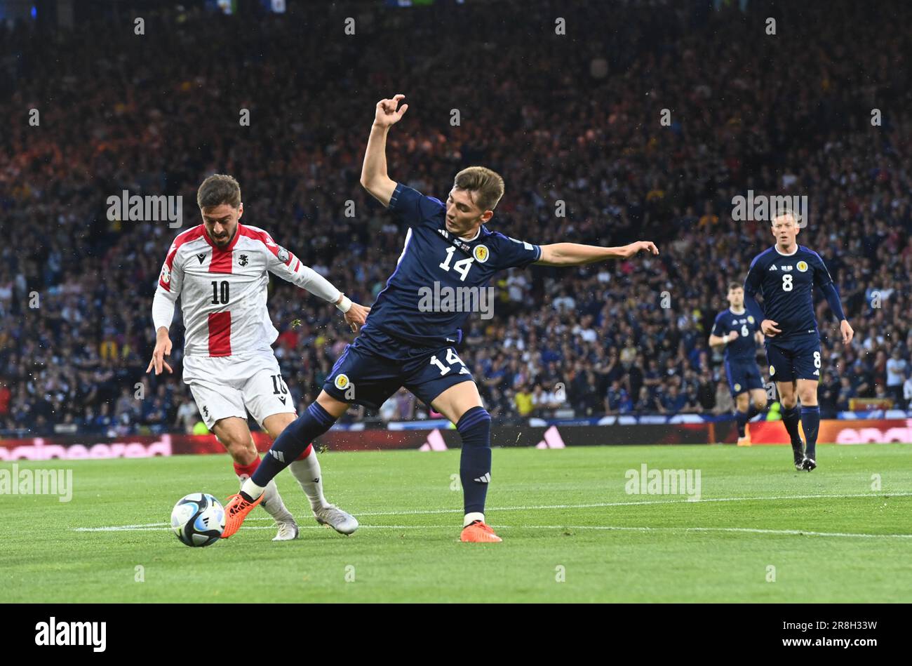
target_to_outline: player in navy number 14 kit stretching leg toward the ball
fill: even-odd
[[[241,493],[229,498],[223,536],[237,531],[269,480],[329,430],[350,403],[378,408],[405,386],[452,421],[461,435],[461,540],[501,541],[484,523],[491,482],[491,415],[456,350],[468,312],[422,307],[422,300],[431,292],[477,292],[498,271],[513,266],[583,265],[640,251],[658,255],[656,245],[646,241],[621,247],[532,245],[489,230],[485,223],[503,196],[503,179],[484,167],[456,174],[446,203],[391,180],[387,134],[409,108],[408,104],[399,108],[404,97],[378,102],[361,172],[361,184],[368,193],[409,226],[396,270],[378,294],[361,334],[337,359],[316,401],[275,439]]]

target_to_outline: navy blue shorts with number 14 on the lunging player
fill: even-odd
[[[472,381],[454,347],[416,347],[376,329],[348,345],[326,377],[323,390],[338,401],[378,410],[404,386],[430,405],[444,390]]]

